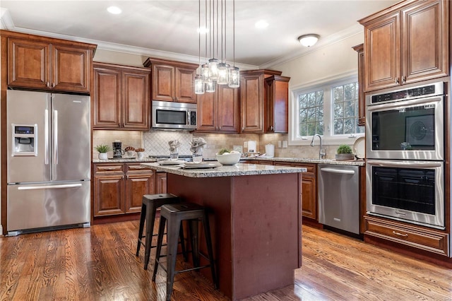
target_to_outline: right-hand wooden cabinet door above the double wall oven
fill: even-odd
[[[448,5],[428,1],[402,11],[402,83],[448,75]]]

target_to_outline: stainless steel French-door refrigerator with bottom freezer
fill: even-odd
[[[7,91],[8,235],[90,226],[90,97]]]

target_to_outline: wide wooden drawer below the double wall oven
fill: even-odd
[[[446,233],[371,216],[364,216],[364,220],[365,235],[398,242],[436,254],[445,256],[449,254],[448,234]]]

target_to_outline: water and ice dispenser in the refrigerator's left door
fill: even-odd
[[[12,155],[37,155],[37,124],[11,124]]]

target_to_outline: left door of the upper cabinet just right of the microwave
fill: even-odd
[[[204,93],[197,95],[197,131],[216,131],[216,114],[217,114],[217,94]]]

